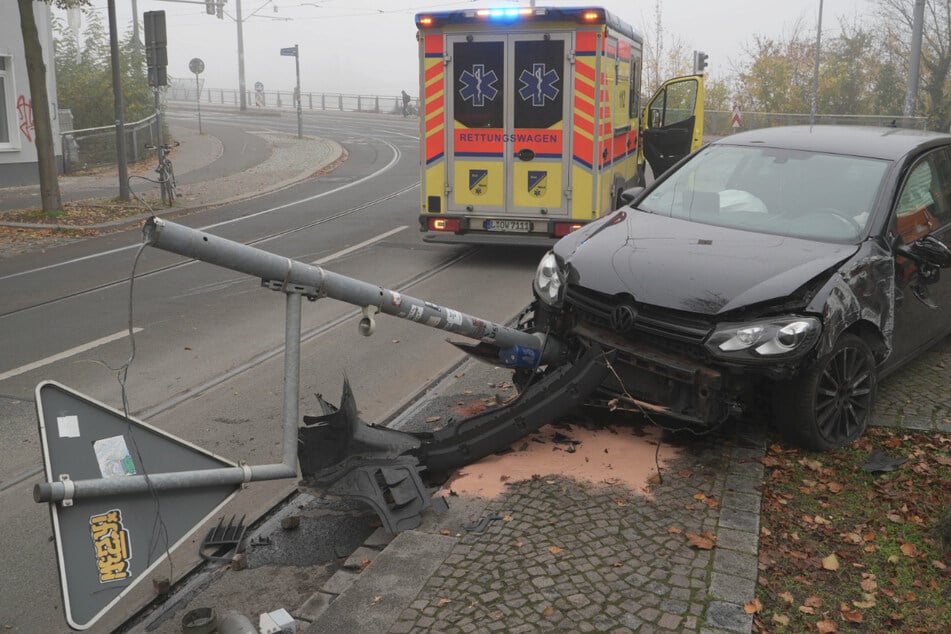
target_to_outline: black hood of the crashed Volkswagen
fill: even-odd
[[[572,284],[707,315],[782,300],[858,246],[741,231],[622,209],[563,238]]]

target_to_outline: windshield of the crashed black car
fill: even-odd
[[[842,154],[711,145],[638,209],[824,242],[865,233],[888,162]]]

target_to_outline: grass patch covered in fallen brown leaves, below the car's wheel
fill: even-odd
[[[880,448],[907,461],[864,471]],[[754,632],[924,632],[951,622],[951,564],[934,532],[951,503],[949,449],[946,433],[881,428],[823,454],[770,447],[760,460]]]

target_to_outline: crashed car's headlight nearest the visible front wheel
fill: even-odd
[[[707,339],[714,356],[775,359],[805,354],[819,340],[822,324],[815,317],[777,317],[741,324],[720,324]]]

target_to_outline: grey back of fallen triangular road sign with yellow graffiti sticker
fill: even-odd
[[[36,386],[49,482],[234,467],[59,383]],[[99,620],[238,490],[227,484],[51,503],[66,622]]]

